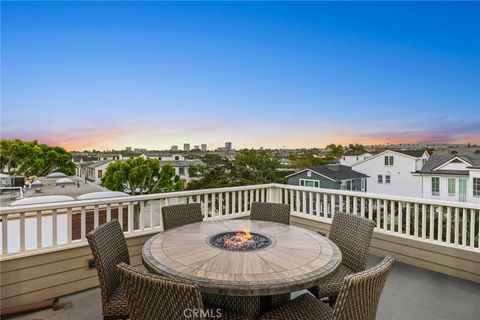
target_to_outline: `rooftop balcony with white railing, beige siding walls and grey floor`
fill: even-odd
[[[76,319],[83,299],[96,303],[88,312],[98,310],[100,317],[97,274],[88,268],[85,240],[91,229],[118,219],[131,263],[141,265],[143,244],[162,231],[162,206],[198,202],[205,220],[242,219],[253,201],[289,204],[292,224],[324,234],[336,211],[374,220],[371,264],[386,254],[400,262],[387,282],[379,319],[471,319],[480,312],[478,204],[279,184],[0,208],[2,308],[69,295],[60,303],[73,302],[70,311],[35,317],[62,319],[70,312]]]

